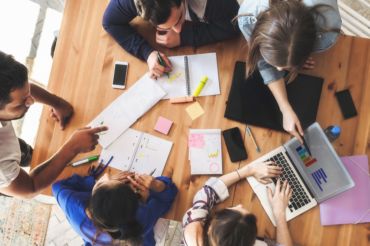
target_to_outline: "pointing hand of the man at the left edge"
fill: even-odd
[[[99,132],[107,131],[108,127],[83,127],[76,130],[68,139],[65,146],[73,151],[75,155],[87,153],[95,149],[98,145]]]

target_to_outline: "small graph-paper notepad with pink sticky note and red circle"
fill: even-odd
[[[189,148],[191,174],[222,174],[221,129],[190,129],[189,139],[203,134],[203,148]]]

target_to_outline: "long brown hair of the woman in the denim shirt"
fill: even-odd
[[[246,77],[258,68],[258,60],[262,55],[272,66],[289,67],[287,83],[292,82],[313,52],[315,20],[319,15],[324,18],[318,11],[322,6],[328,7],[326,10],[333,8],[327,4],[307,7],[302,0],[269,0],[269,8],[259,13],[250,35]],[[316,14],[315,19],[313,14]],[[234,20],[246,15],[251,14],[239,14]],[[341,32],[337,28],[322,28],[323,32]]]

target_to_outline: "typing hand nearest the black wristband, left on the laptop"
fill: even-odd
[[[269,166],[273,164],[274,166]],[[259,182],[263,184],[271,183],[269,180],[263,178],[277,178],[282,173],[281,167],[276,166],[275,162],[262,162],[262,163],[253,163],[245,166],[250,169],[250,175],[254,176]]]

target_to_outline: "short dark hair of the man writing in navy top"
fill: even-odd
[[[161,25],[168,21],[172,8],[179,8],[181,2],[182,0],[135,0],[135,5],[144,21]]]

